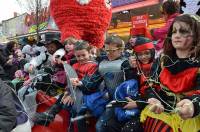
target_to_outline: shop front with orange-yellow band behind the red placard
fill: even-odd
[[[160,3],[160,0],[113,0],[113,17],[108,33],[128,39],[133,18],[141,16],[147,16],[146,27],[149,30],[163,26],[165,22],[160,13]]]

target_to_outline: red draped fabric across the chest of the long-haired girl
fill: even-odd
[[[198,68],[188,68],[175,75],[164,68],[160,74],[160,82],[174,93],[183,93],[193,90],[196,83]]]

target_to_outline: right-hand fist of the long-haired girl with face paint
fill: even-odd
[[[194,115],[194,105],[189,99],[181,100],[176,107],[178,108],[178,114],[183,119],[192,118]]]

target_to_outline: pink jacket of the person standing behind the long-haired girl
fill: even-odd
[[[155,40],[158,40],[158,43],[155,45],[155,49],[157,51],[159,51],[163,48],[163,43],[166,38],[167,32],[168,32],[172,22],[174,21],[174,18],[178,15],[179,15],[179,13],[172,14],[171,16],[169,16],[167,18],[165,26],[153,30],[153,34],[152,34],[153,38]]]

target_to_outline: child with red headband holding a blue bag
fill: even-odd
[[[124,97],[122,100],[128,101],[128,103],[122,108],[116,108],[116,117],[108,122],[107,131],[109,132],[143,131],[139,120],[139,110],[142,110],[143,107],[146,106],[141,102],[145,101],[146,81],[152,77],[151,71],[154,70],[153,62],[155,61],[155,49],[153,42],[145,37],[132,38],[131,45],[133,46],[135,55],[131,56],[129,61],[131,66],[136,69],[135,71],[137,71],[135,74],[138,75],[139,85],[134,84],[134,80],[129,80],[122,83],[117,88],[118,90],[115,94],[120,96],[115,97],[116,100],[119,100],[119,97],[121,97],[121,99]],[[127,90],[124,91],[124,89],[132,90],[129,90],[129,93],[126,93]]]

